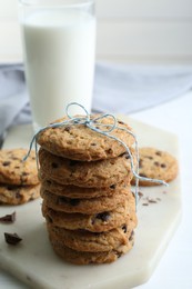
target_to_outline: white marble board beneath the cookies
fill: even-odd
[[[174,134],[122,118],[133,127],[140,147],[155,147],[179,158]],[[29,147],[31,136],[30,126],[12,128],[4,148]],[[0,267],[29,287],[39,289],[128,289],[148,281],[179,226],[180,178],[171,182],[169,188],[140,188],[140,191],[143,197],[138,207],[135,245],[128,255],[111,265],[75,266],[57,257],[48,240],[41,216],[41,200],[17,207],[1,206],[0,216],[16,211],[17,221],[0,225]],[[155,199],[156,202],[148,203],[146,198]],[[4,231],[17,232],[23,239],[22,242],[16,247],[7,245]]]

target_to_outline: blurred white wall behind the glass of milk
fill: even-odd
[[[191,0],[95,0],[97,60],[192,63]],[[22,61],[18,1],[0,0],[0,63]]]

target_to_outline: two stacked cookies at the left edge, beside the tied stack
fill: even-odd
[[[21,205],[40,197],[36,153],[23,161],[26,149],[0,150],[0,205]]]

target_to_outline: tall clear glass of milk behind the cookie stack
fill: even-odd
[[[94,0],[19,0],[27,84],[37,131],[70,102],[91,111]],[[82,113],[72,106],[70,113]]]

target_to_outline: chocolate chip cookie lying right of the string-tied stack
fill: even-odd
[[[155,148],[140,148],[139,173],[141,177],[172,181],[178,175],[178,161],[166,151]],[[132,183],[134,183],[132,179]],[[159,182],[140,180],[140,186],[158,186]]]

